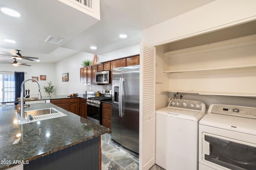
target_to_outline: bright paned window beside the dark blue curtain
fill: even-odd
[[[15,98],[14,74],[0,74],[0,99],[13,101]]]

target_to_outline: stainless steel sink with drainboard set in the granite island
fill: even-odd
[[[16,117],[18,119],[18,124],[30,123],[34,121],[41,121],[46,119],[53,119],[57,117],[67,116],[61,111],[51,107],[46,109],[36,109],[25,111],[25,116],[20,117],[20,113],[16,112]]]

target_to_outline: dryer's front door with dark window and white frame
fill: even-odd
[[[222,136],[203,135],[203,159],[232,170],[256,170],[256,146]]]

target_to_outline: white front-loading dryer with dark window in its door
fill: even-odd
[[[199,170],[256,170],[256,108],[210,105],[199,121]]]

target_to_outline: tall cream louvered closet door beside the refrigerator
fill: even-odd
[[[140,43],[140,170],[155,163],[155,47]]]

